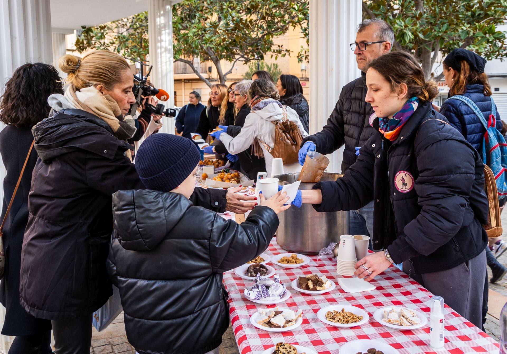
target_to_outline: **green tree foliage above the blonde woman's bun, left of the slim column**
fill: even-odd
[[[76,39],[79,53],[106,49],[131,61],[145,61],[148,49],[148,11],[94,27],[82,26]]]

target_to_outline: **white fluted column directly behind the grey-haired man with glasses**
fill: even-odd
[[[360,0],[310,0],[310,134],[322,130],[342,87],[360,75],[349,44],[361,11]],[[328,172],[340,172],[343,147],[328,157]]]

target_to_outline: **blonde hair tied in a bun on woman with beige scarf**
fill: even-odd
[[[66,54],[60,58],[58,66],[68,74],[65,82],[77,89],[102,84],[111,90],[120,82],[125,70],[130,70],[127,60],[108,50],[95,50],[82,59]]]

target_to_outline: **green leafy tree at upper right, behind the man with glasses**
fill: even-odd
[[[434,63],[455,48],[473,50],[486,59],[507,56],[506,33],[497,30],[507,20],[507,0],[363,1],[363,14],[392,26],[394,48],[414,53],[426,79],[434,75]]]

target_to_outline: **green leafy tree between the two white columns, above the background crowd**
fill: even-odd
[[[308,35],[308,0],[184,0],[172,7],[174,59],[187,63],[208,86],[211,82],[194,67],[194,58],[211,61],[225,83],[237,62],[259,61],[265,53],[276,59],[291,51],[274,43],[291,27]],[[299,58],[307,56],[304,49]],[[228,71],[221,61],[232,63]]]

